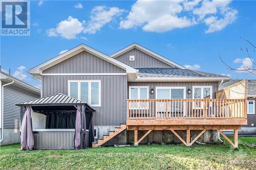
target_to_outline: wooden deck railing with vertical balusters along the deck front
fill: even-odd
[[[245,99],[127,100],[127,119],[246,119]]]

